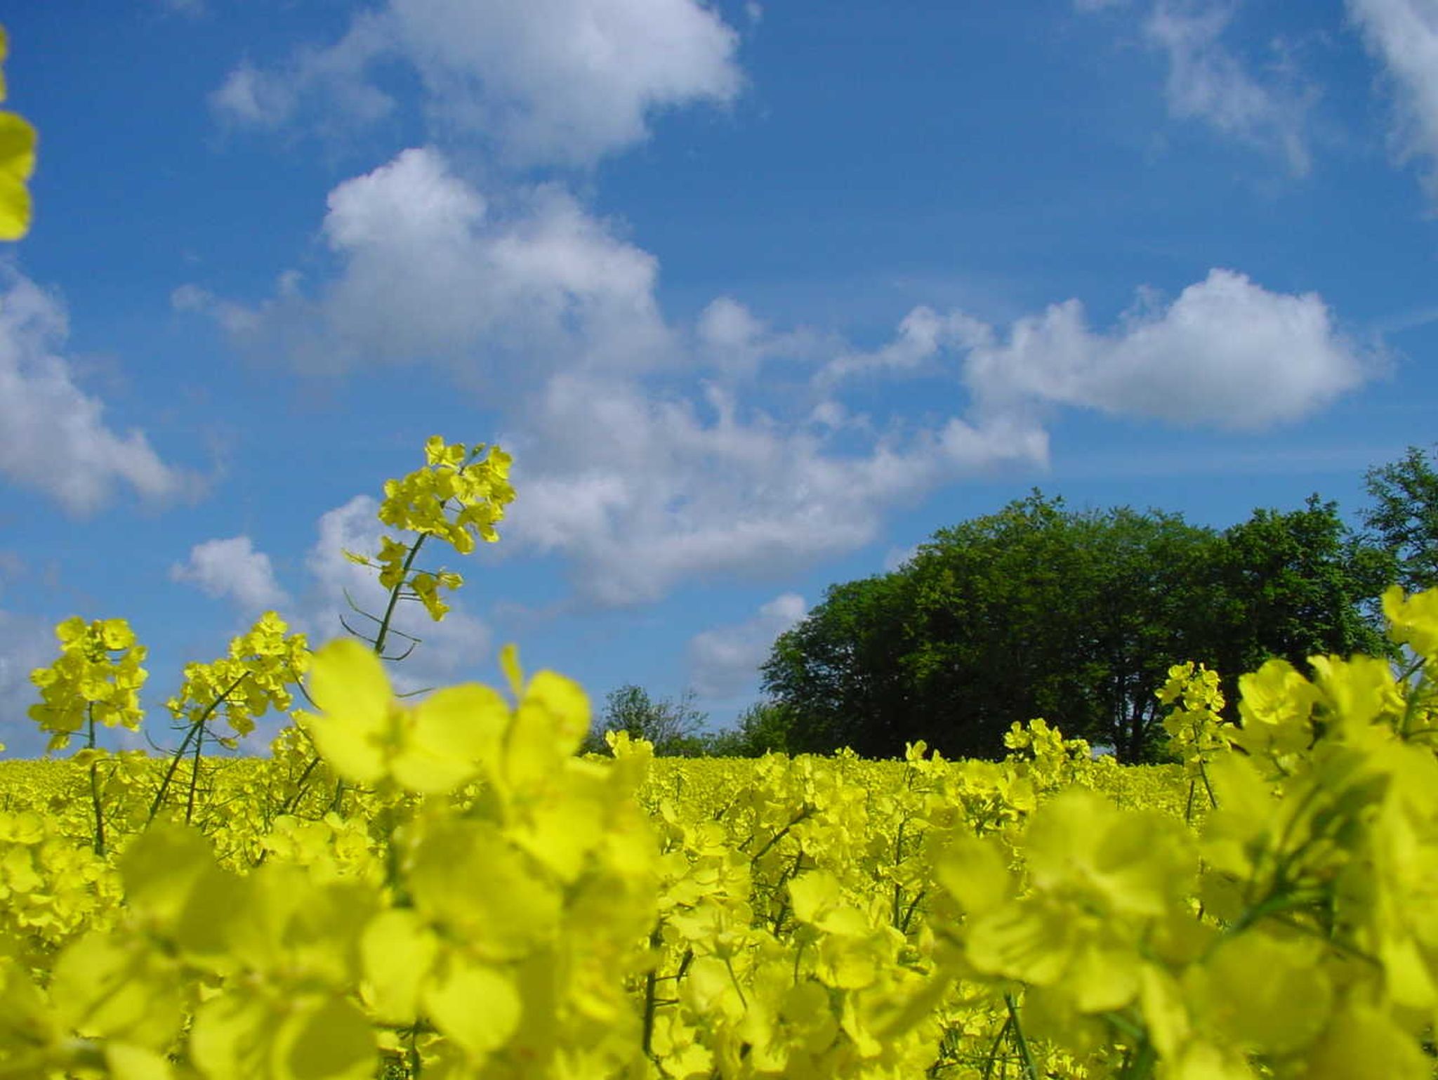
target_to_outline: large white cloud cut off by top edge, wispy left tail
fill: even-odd
[[[519,164],[588,165],[643,141],[649,118],[742,86],[738,33],[697,0],[390,0],[335,45],[272,70],[242,63],[211,96],[226,119],[279,127],[306,95],[370,121],[394,102],[380,60],[417,72],[436,125]]]

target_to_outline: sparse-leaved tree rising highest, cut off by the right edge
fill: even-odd
[[[1402,460],[1369,469],[1365,486],[1365,539],[1391,559],[1391,581],[1409,592],[1438,587],[1438,472],[1424,452],[1409,446]]]

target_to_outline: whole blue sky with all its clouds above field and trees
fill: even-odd
[[[104,10],[101,10],[104,9]],[[1435,440],[1432,0],[17,4],[0,739],[125,617],[157,733],[371,611],[387,477],[513,454],[400,689],[722,728],[830,584],[1032,486],[1224,528]],[[256,745],[278,718],[260,728]],[[131,741],[132,742],[132,741]]]

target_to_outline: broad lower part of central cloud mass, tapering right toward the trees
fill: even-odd
[[[802,424],[741,418],[705,384],[716,414],[656,400],[633,381],[555,375],[518,417],[506,522],[516,549],[571,557],[584,595],[624,605],[712,574],[771,580],[874,539],[887,511],[1004,463],[1047,460],[1045,433],[1015,416],[952,418],[907,446],[824,452]],[[509,446],[509,441],[505,443]]]

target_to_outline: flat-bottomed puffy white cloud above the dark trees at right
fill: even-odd
[[[1094,334],[1076,301],[1014,324],[974,349],[965,381],[986,408],[1086,406],[1176,424],[1257,430],[1299,420],[1376,372],[1317,293],[1273,293],[1214,269],[1162,308],[1140,292],[1114,334]]]

